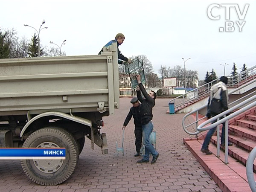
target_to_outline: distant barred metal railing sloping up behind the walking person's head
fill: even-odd
[[[236,76],[228,77],[227,87],[239,87],[253,79],[256,79],[256,65],[251,67],[250,69],[245,70],[242,73],[239,73]],[[218,80],[219,79],[215,79],[209,83],[201,85],[200,87],[197,87],[181,96],[170,100],[169,102],[174,102],[175,108],[178,108],[185,105],[186,103],[205,98],[209,96],[210,87],[212,87],[213,84],[217,83]]]

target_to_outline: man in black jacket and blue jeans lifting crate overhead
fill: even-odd
[[[153,159],[151,163],[156,163],[157,158],[159,157],[159,153],[154,149],[154,146],[150,142],[150,134],[153,131],[153,114],[152,108],[155,105],[155,99],[157,98],[157,94],[154,91],[150,91],[148,94],[145,90],[145,87],[141,83],[140,75],[136,75],[138,81],[137,88],[137,97],[141,102],[140,105],[140,116],[141,116],[141,124],[142,124],[142,135],[143,135],[143,144],[145,145],[145,154],[142,160],[138,160],[137,163],[148,163],[149,162],[149,153],[152,154]],[[145,99],[143,99],[141,92]]]

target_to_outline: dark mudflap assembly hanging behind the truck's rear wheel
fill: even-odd
[[[93,137],[91,137],[93,135]],[[94,143],[102,148],[102,154],[108,154],[108,143],[106,133],[100,134],[100,132],[91,127],[91,134],[87,136],[91,140],[92,149],[94,149]]]

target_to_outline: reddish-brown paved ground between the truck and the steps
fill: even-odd
[[[130,98],[120,98],[115,115],[104,117],[102,132],[107,133],[109,154],[90,149],[86,139],[75,172],[58,186],[40,186],[24,174],[19,160],[0,161],[0,192],[221,192],[195,157],[183,145],[184,114],[166,114],[169,99],[157,99],[154,129],[157,134],[157,163],[137,164],[134,157],[134,127],[125,129],[125,155],[116,155],[116,140],[121,146],[122,124],[131,107]]]

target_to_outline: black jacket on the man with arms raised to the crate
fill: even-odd
[[[141,102],[141,105],[140,105],[141,123],[142,125],[145,125],[153,119],[152,108],[155,105],[155,100],[148,95],[142,83],[139,84],[139,87],[143,96],[145,97],[145,99],[143,99],[141,92],[137,91],[137,97]]]

